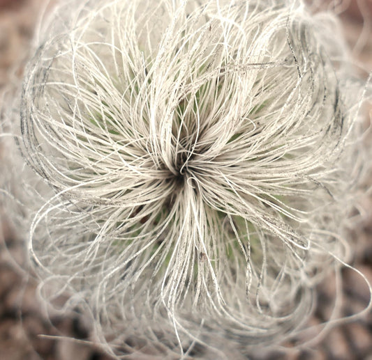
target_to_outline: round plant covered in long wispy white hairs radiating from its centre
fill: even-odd
[[[285,0],[57,8],[22,93],[23,152],[54,190],[29,250],[41,294],[69,294],[111,354],[276,344],[348,260],[361,93],[330,19]]]

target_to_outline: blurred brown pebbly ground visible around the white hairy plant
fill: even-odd
[[[327,8],[332,3],[331,6],[340,13],[344,33],[335,36],[347,38],[353,56],[365,68],[356,71],[366,79],[372,70],[372,0],[308,2],[316,8]],[[52,6],[53,1],[49,3]],[[0,0],[0,108],[1,93],[22,79],[34,26],[45,9],[45,0]],[[366,109],[366,116],[369,115],[372,116],[371,107]],[[0,147],[0,171],[3,171],[1,159],[4,157],[6,151]],[[372,185],[372,178],[369,185]],[[352,265],[372,283],[372,196],[366,196],[364,208],[370,211],[351,234],[355,240]],[[82,320],[61,315],[48,318],[45,315],[35,295],[36,283],[25,278],[21,269],[25,263],[24,242],[15,237],[6,221],[6,209],[1,204],[0,216],[0,359],[110,360],[98,348],[84,344],[84,340],[91,339],[91,334]],[[342,281],[341,315],[361,311],[370,297],[363,279],[356,272],[343,269]],[[335,279],[330,275],[318,286],[318,306],[311,324],[329,318],[335,291]],[[372,360],[372,314],[332,329],[320,343],[308,350],[286,355],[280,352],[262,354],[258,359]]]

